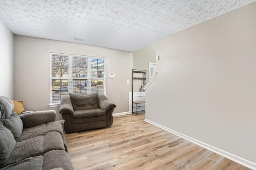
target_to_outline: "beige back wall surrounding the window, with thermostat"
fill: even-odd
[[[56,120],[62,117],[58,113],[59,107],[49,107],[50,102],[50,52],[74,55],[88,55],[107,58],[107,74],[115,73],[115,78],[107,76],[107,97],[116,104],[114,113],[129,110],[129,92],[132,80],[132,53],[15,35],[15,85],[14,98],[23,100],[26,110],[50,110],[57,112]]]

